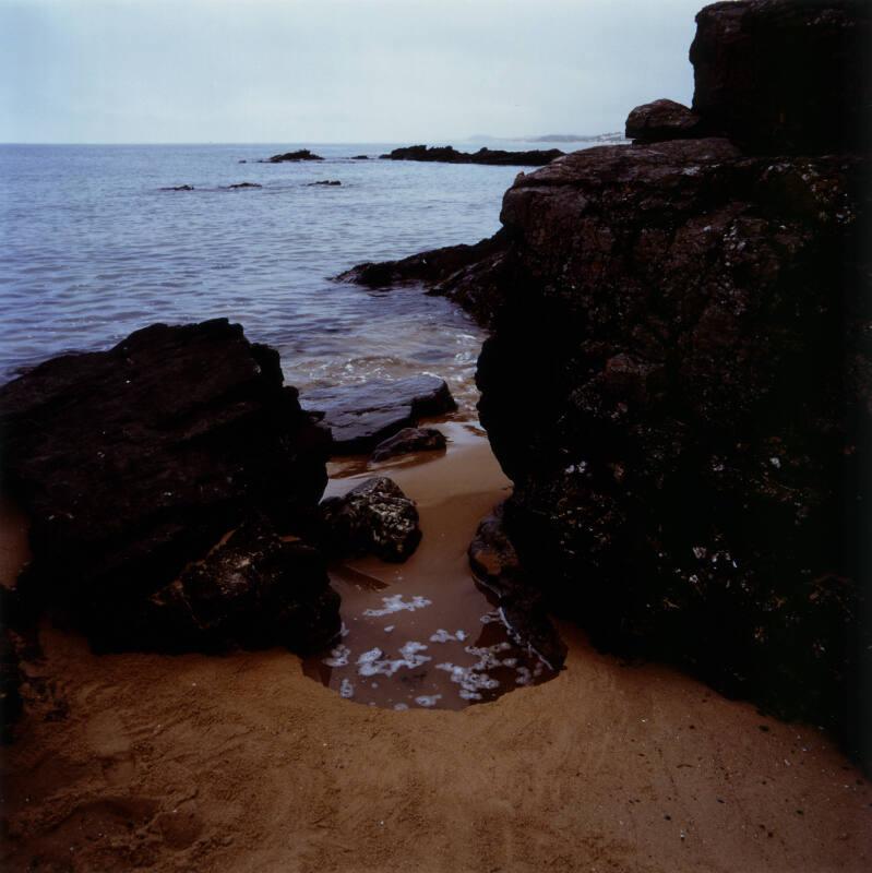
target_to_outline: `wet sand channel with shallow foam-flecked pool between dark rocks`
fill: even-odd
[[[466,555],[479,521],[511,493],[511,481],[477,424],[437,426],[447,452],[331,465],[329,494],[374,475],[393,478],[416,501],[423,534],[402,564],[365,558],[331,571],[343,598],[344,636],[304,667],[355,703],[461,709],[553,675],[512,638],[474,584]]]

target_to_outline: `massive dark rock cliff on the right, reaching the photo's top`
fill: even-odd
[[[481,421],[552,608],[855,752],[872,675],[869,14],[707,7],[693,111],[720,136],[577,152],[518,177],[481,260],[360,271],[474,299],[492,325]]]

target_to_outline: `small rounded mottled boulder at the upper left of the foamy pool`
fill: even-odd
[[[322,545],[334,554],[401,562],[421,541],[415,502],[384,476],[367,479],[345,497],[327,498],[321,513]]]

